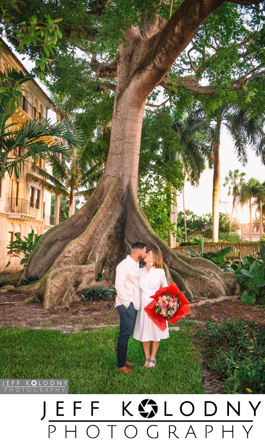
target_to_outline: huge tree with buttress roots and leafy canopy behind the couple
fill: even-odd
[[[90,67],[98,79],[117,79],[116,82],[99,81],[98,84],[98,89],[115,91],[104,176],[80,210],[42,236],[25,267],[24,276],[40,279],[23,290],[44,299],[44,306],[68,301],[76,288],[91,283],[95,273],[103,268],[105,274],[113,278],[115,266],[128,251],[128,244],[137,240],[162,252],[168,279],[173,279],[187,295],[192,296],[193,290],[197,294],[211,292],[213,297],[235,293],[232,274],[220,271],[214,263],[202,258],[179,255],[156,236],[137,203],[138,161],[146,100],[158,85],[174,93],[179,91],[180,96],[185,90],[204,95],[213,95],[216,90],[221,90],[221,95],[226,95],[242,92],[262,72],[261,10],[253,7],[246,13],[237,7],[238,4],[249,6],[253,3],[261,2],[174,1],[170,19],[171,2],[160,0],[133,3],[126,0],[113,3],[108,0],[28,0],[27,6],[21,6],[22,15],[26,18],[32,9],[38,9],[39,14],[49,12],[53,17],[63,17],[61,54],[65,57],[69,88],[74,88],[75,96],[93,80],[91,70],[90,74],[86,71],[84,78],[82,75],[73,78],[75,65],[85,65],[88,69],[85,57],[77,57],[76,48],[84,54],[92,54]],[[219,13],[214,17],[214,27],[210,21],[200,28],[217,8]],[[250,17],[259,21],[255,25],[257,31],[249,23],[244,26],[243,16],[248,22]],[[237,27],[238,39],[230,34],[227,41],[222,41],[217,36],[215,45],[215,30],[220,31],[222,27],[228,30]],[[202,35],[205,41],[200,44]],[[221,76],[217,81],[217,73],[209,79],[209,86],[202,86],[199,80],[205,74],[203,67],[196,66],[200,72],[195,77],[179,74],[180,56],[185,54],[183,51],[190,42],[194,42],[192,47],[201,55],[205,69],[207,65],[218,66],[219,62],[223,65],[227,54],[233,53],[233,78],[225,76],[223,81]],[[230,50],[224,54],[226,45]],[[70,57],[67,57],[68,52],[71,52]],[[256,54],[254,57],[253,53]],[[179,62],[174,65],[178,57]],[[245,72],[245,65],[238,68],[242,57],[244,61],[251,62],[255,57],[261,61],[258,67],[250,66],[251,72]],[[56,57],[54,60],[56,62]],[[231,64],[231,59],[227,61],[230,70],[233,62]],[[219,100],[221,95],[218,95]]]

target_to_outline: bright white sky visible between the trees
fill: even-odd
[[[8,43],[10,44],[10,43]],[[23,63],[23,65],[31,70],[33,64],[32,61],[28,60],[28,57],[22,56],[16,51],[14,51],[19,60]],[[24,60],[22,58],[25,57]],[[38,84],[40,84],[41,88],[49,95],[49,91],[44,84],[42,84],[38,79],[35,79]],[[162,99],[163,101],[163,99]],[[49,118],[56,118],[56,114],[50,110],[48,114]],[[231,215],[232,212],[232,197],[227,196],[228,187],[223,187],[225,176],[228,174],[228,171],[234,171],[235,169],[239,169],[239,172],[246,173],[246,181],[255,177],[261,182],[265,181],[265,166],[261,164],[261,160],[255,156],[255,153],[248,148],[248,163],[246,167],[243,167],[236,157],[233,150],[233,142],[230,136],[227,133],[226,128],[223,126],[221,130],[221,140],[220,140],[220,172],[221,172],[221,201],[228,203],[225,205],[224,203],[220,204],[219,210],[220,212],[227,213]],[[212,210],[212,181],[213,181],[213,170],[209,170],[208,168],[204,171],[200,179],[200,185],[198,187],[192,187],[190,183],[185,183],[185,207],[186,209],[192,210],[197,215],[204,215],[205,213],[209,213]],[[183,210],[183,198],[182,194],[177,198],[177,206],[178,210]],[[254,218],[255,210],[252,211],[252,219]],[[249,208],[248,206],[238,208],[237,212],[240,220],[244,223],[249,222]],[[234,217],[234,215],[233,215]]]

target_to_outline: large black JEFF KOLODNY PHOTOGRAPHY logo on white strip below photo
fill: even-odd
[[[53,440],[67,438],[68,434],[94,439],[99,435],[112,439],[121,434],[125,438],[135,438],[137,434],[158,438],[160,434],[167,434],[167,438],[174,440],[192,435],[202,440],[210,433],[214,438],[253,440],[256,417],[261,412],[261,400],[253,398],[229,401],[223,397],[214,400],[181,397],[130,400],[127,397],[121,400],[114,396],[106,395],[104,400],[101,395],[94,396],[93,400],[83,397],[72,400],[67,396],[53,403],[43,401],[40,420],[46,423],[47,435]]]

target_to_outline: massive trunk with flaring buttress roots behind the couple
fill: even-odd
[[[194,8],[191,1],[184,2],[179,14],[192,15],[192,20],[184,23],[181,15],[174,14],[158,34],[158,40],[152,40],[152,35],[157,38],[160,22],[150,24],[142,34],[134,27],[127,31],[129,45],[119,48],[117,72],[108,68],[109,76],[117,76],[117,87],[104,176],[81,209],[38,241],[23,277],[40,279],[18,287],[18,291],[38,297],[46,308],[69,304],[78,290],[95,283],[96,275],[103,269],[104,276],[114,282],[115,267],[130,251],[130,244],[141,241],[147,249],[153,248],[163,255],[168,282],[174,280],[187,296],[193,297],[194,292],[208,292],[212,297],[237,294],[232,274],[204,258],[191,258],[171,250],[154,233],[137,202],[146,99],[191,41],[200,23],[219,4],[221,0],[197,2]],[[101,65],[97,63],[98,72],[104,76]]]

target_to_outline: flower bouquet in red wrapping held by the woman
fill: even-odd
[[[145,312],[161,331],[166,329],[166,321],[174,325],[183,315],[190,313],[188,299],[173,281],[150,298],[153,301],[146,305]]]

